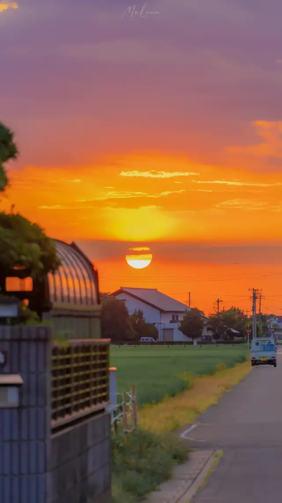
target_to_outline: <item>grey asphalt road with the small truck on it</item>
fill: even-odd
[[[279,355],[280,353],[280,355]],[[186,433],[223,457],[193,503],[282,502],[282,351],[277,367],[255,367]]]

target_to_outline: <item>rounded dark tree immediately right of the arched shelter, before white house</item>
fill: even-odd
[[[109,295],[101,304],[102,337],[112,341],[134,341],[136,332],[124,302]]]

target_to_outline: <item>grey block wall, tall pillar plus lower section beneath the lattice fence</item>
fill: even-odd
[[[0,407],[1,503],[110,503],[110,416],[51,432],[51,331],[1,327],[0,373],[20,374],[19,408]]]

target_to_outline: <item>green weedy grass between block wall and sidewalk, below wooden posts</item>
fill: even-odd
[[[168,480],[175,465],[188,458],[188,448],[173,435],[139,430],[124,441],[112,440],[112,503],[143,501]]]

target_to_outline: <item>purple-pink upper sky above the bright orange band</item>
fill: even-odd
[[[120,0],[18,5],[0,13],[0,109],[19,165],[145,147],[221,163],[257,141],[250,122],[281,117],[278,0],[152,0],[160,14],[133,19]]]

